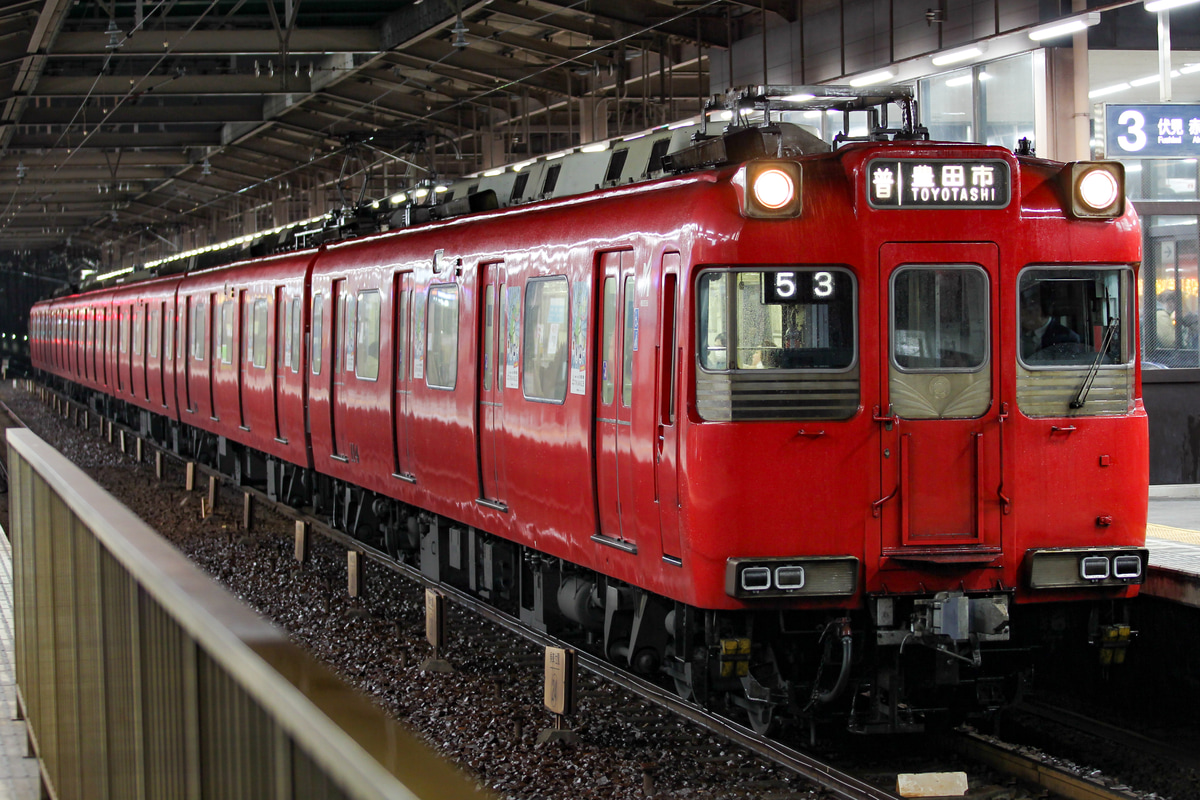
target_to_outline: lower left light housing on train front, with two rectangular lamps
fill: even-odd
[[[725,563],[725,594],[755,597],[840,597],[858,589],[851,555],[737,558]]]

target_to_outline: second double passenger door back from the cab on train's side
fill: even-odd
[[[504,505],[504,387],[508,373],[502,325],[505,301],[504,263],[479,265],[480,311],[479,351],[479,498],[485,505]]]

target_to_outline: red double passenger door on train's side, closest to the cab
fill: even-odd
[[[632,475],[636,278],[630,251],[600,259],[600,347],[595,374],[596,506],[604,543],[636,552]]]

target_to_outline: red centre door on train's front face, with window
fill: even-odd
[[[998,265],[991,243],[881,249],[883,569],[1001,555]]]

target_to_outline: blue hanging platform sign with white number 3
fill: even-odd
[[[1109,158],[1200,157],[1200,106],[1148,103],[1104,107]]]

